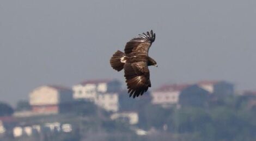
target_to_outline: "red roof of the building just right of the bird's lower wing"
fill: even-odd
[[[172,85],[163,85],[157,89],[155,92],[170,92],[170,91],[182,91],[182,89],[191,86],[191,84],[172,84]]]

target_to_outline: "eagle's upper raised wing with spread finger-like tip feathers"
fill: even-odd
[[[148,55],[149,47],[155,41],[156,35],[153,33],[153,30],[147,32],[147,34],[143,33],[139,34],[139,37],[135,37],[125,45],[125,54],[130,53],[139,53]]]

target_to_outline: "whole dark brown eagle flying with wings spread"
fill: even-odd
[[[118,50],[110,59],[113,69],[118,72],[124,69],[130,97],[138,97],[151,87],[148,66],[157,67],[157,63],[148,56],[148,52],[151,44],[155,41],[155,37],[153,30],[139,34],[126,43],[124,53]]]

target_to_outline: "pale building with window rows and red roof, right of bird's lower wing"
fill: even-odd
[[[182,89],[188,87],[188,84],[173,84],[173,85],[164,85],[160,88],[155,89],[151,93],[152,104],[160,105],[173,105],[178,104],[179,95]]]

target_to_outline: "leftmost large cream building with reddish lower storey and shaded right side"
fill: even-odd
[[[60,86],[41,86],[29,94],[33,113],[60,113],[67,110],[61,107],[72,101],[71,89]]]

